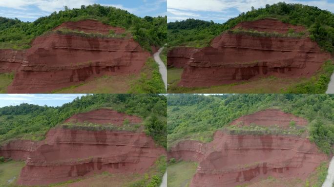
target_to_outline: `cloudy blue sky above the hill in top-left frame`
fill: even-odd
[[[65,5],[80,8],[94,3],[125,9],[140,17],[167,14],[167,0],[0,0],[0,17],[34,21],[63,10]]]

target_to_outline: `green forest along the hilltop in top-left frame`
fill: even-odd
[[[23,22],[19,19],[0,17],[0,48],[24,49],[30,47],[35,37],[52,30],[66,21],[97,19],[105,24],[123,27],[143,48],[150,51],[150,46],[161,46],[167,38],[167,17],[140,18],[125,10],[99,4],[82,5],[72,10],[41,17],[34,22]]]

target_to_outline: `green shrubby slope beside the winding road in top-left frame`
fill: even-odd
[[[142,69],[141,77],[131,84],[128,93],[166,93],[164,81],[159,72],[159,65],[149,57]]]

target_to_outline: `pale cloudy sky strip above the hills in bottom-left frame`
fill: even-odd
[[[62,106],[85,94],[0,94],[0,107],[29,103],[40,106]]]

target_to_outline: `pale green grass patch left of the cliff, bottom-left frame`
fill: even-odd
[[[24,165],[24,162],[16,161],[0,163],[0,187],[15,185]]]

